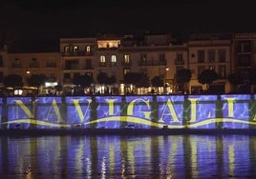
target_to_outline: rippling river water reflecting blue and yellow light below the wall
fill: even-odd
[[[1,137],[0,178],[256,176],[256,136]]]

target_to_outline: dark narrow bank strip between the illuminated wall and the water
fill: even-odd
[[[0,129],[0,136],[45,135],[256,135],[256,129]]]

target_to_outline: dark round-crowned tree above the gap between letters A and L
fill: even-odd
[[[176,73],[176,83],[181,85],[183,91],[187,91],[187,84],[191,80],[192,72],[188,69],[178,70]]]

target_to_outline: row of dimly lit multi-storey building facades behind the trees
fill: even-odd
[[[229,74],[244,76],[246,82],[245,77],[256,68],[255,38],[254,33],[197,34],[181,43],[169,33],[61,38],[57,50],[0,50],[0,77],[19,74],[26,84],[32,74],[43,73],[61,87],[73,88],[75,76],[90,75],[97,86],[97,75],[104,72],[115,77],[115,93],[124,94],[124,75],[137,72],[146,74],[149,87],[136,89],[135,93],[147,94],[154,89],[161,94],[181,92],[176,73],[189,69],[192,78],[188,93],[200,93],[207,87],[198,82],[199,74],[215,70],[218,80],[210,87],[227,93],[233,90]],[[156,76],[163,81],[160,88],[151,83]],[[102,90],[101,86],[94,88]]]

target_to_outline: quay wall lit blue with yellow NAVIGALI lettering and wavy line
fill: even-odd
[[[1,129],[256,129],[256,94],[0,98]]]

